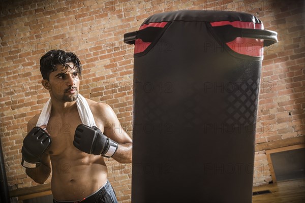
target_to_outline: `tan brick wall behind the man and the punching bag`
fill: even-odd
[[[51,49],[76,53],[84,67],[80,93],[109,104],[132,136],[133,46],[123,43],[154,13],[224,10],[251,13],[279,43],[264,51],[256,143],[304,136],[304,3],[302,1],[2,1],[1,141],[11,190],[37,185],[20,166],[26,123],[48,93],[39,59]],[[108,160],[119,201],[131,199],[131,164]],[[264,151],[256,152],[254,185],[271,180]],[[50,182],[50,179],[47,180]]]

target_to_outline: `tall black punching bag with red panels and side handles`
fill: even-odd
[[[253,15],[175,11],[134,50],[132,202],[251,202],[263,47]]]

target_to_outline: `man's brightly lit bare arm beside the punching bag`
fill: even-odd
[[[132,139],[121,127],[119,120],[111,107],[107,104],[100,104],[102,115],[106,118],[104,123],[104,134],[111,140],[118,143],[118,148],[115,154],[112,156],[116,161],[120,163],[132,162]]]

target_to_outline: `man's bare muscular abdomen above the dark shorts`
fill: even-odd
[[[74,161],[52,161],[51,189],[56,200],[82,199],[96,192],[106,182],[107,167],[101,156],[88,155]]]

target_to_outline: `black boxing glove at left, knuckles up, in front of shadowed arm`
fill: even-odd
[[[44,129],[34,127],[23,140],[21,165],[26,168],[38,167],[41,164],[41,156],[50,147],[51,142],[51,137]]]

